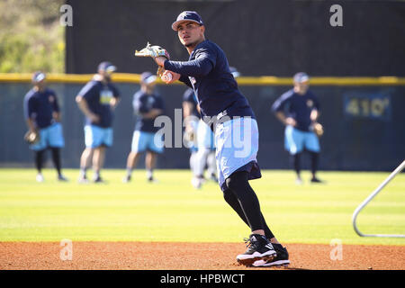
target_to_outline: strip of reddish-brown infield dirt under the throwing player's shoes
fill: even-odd
[[[343,245],[340,255],[329,245],[288,244],[286,247],[291,260],[288,269],[405,269],[405,246]],[[236,263],[235,257],[245,249],[243,243],[73,242],[72,260],[61,259],[63,248],[57,242],[0,242],[0,269],[258,269]],[[331,260],[331,253],[338,258]]]

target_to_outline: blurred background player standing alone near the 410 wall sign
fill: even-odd
[[[309,90],[310,77],[306,73],[295,74],[293,82],[293,89],[288,90],[275,101],[272,111],[285,125],[284,147],[293,157],[293,167],[297,175],[296,183],[302,184],[300,172],[304,148],[311,155],[311,183],[321,183],[316,176],[320,141],[313,131],[320,115],[320,102]]]

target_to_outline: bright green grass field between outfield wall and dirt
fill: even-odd
[[[108,184],[58,183],[44,171],[0,169],[0,241],[202,241],[239,242],[249,229],[222,198],[217,184],[195,190],[187,170],[160,170],[148,184],[144,170],[122,184],[123,170],[104,170]],[[321,172],[327,184],[294,184],[292,171],[266,170],[252,181],[270,228],[284,243],[405,245],[405,238],[361,238],[352,227],[357,205],[389,173]],[[362,211],[364,233],[405,234],[405,175],[398,175]]]

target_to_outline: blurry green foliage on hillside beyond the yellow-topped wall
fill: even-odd
[[[63,0],[0,2],[0,72],[63,73],[64,27],[59,24]]]

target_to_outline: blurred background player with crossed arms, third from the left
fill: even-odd
[[[157,133],[154,121],[165,110],[162,97],[154,92],[157,76],[144,72],[140,76],[140,90],[133,95],[133,109],[138,115],[132,136],[130,155],[127,159],[127,175],[124,183],[130,182],[132,169],[137,165],[139,156],[146,152],[145,166],[147,179],[154,182],[153,169],[156,166],[157,154],[163,153],[164,143],[162,135]]]

